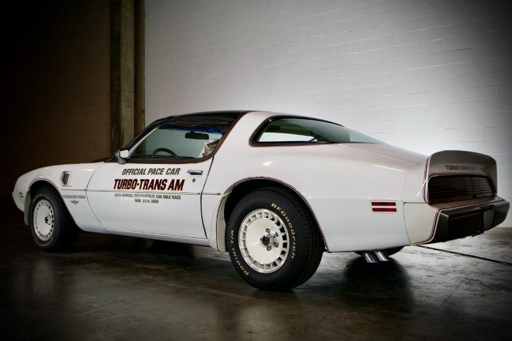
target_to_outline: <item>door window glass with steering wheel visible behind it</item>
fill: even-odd
[[[131,159],[196,159],[208,156],[229,124],[214,122],[164,122],[148,133],[131,151]]]

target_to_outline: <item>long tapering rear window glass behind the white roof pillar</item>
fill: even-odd
[[[262,144],[293,144],[293,143],[381,143],[365,134],[332,122],[307,118],[280,118],[263,126],[254,138]]]

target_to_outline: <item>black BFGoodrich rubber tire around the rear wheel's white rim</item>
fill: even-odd
[[[280,217],[289,236],[289,251],[283,255],[286,258],[278,269],[269,273],[251,268],[239,245],[242,222],[249,213],[259,209],[272,211]],[[248,284],[274,291],[290,290],[309,280],[324,252],[321,233],[305,205],[288,191],[274,187],[251,191],[237,203],[229,217],[226,245],[235,269]],[[263,244],[262,247],[265,248]]]

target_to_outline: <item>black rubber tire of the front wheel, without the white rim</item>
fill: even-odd
[[[36,232],[35,227],[37,224],[34,224],[35,209],[40,202],[46,203],[44,200],[49,203],[53,211],[53,231],[51,234],[48,233],[48,240],[38,236],[38,232]],[[44,251],[70,250],[73,248],[73,245],[78,238],[78,227],[75,225],[73,218],[71,218],[66,205],[60,198],[60,195],[52,187],[41,187],[32,197],[29,212],[29,224],[34,242],[41,250]],[[41,232],[39,232],[39,234],[40,233]]]

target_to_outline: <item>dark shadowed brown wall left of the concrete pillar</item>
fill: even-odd
[[[2,31],[10,195],[19,175],[108,156],[108,0],[11,5]]]

